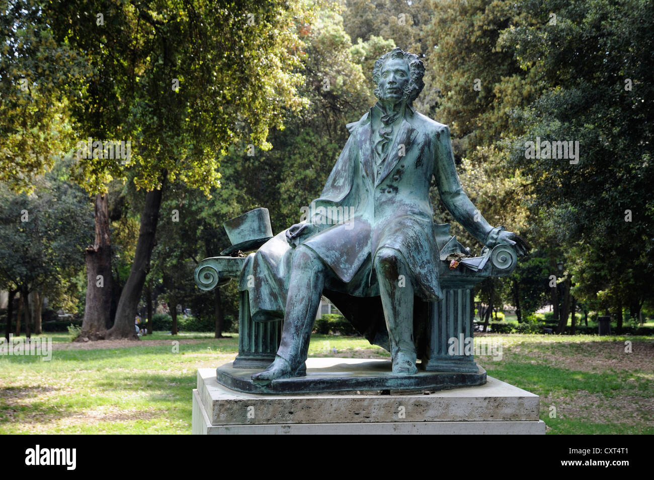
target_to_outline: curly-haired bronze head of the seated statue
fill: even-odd
[[[375,96],[394,102],[405,99],[411,105],[422,92],[423,75],[424,64],[416,54],[394,48],[375,62],[372,70],[372,79],[377,85]]]

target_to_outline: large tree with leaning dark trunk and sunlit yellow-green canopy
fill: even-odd
[[[302,45],[296,21],[311,19],[307,5],[161,0],[49,6],[60,43],[86,52],[102,72],[90,79],[88,101],[74,111],[78,134],[131,142],[125,166],[78,158],[80,182],[100,194],[112,177],[130,175],[147,191],[134,264],[107,337],[135,338],[133,318],[166,181],[180,179],[208,193],[219,184],[220,153],[245,138],[267,149],[269,128],[282,126],[281,109],[302,104],[296,95],[301,75],[294,71]],[[99,22],[98,11],[106,22]],[[80,20],[56,21],[62,18]],[[101,217],[100,208],[96,219]],[[92,262],[90,278],[97,264]]]

